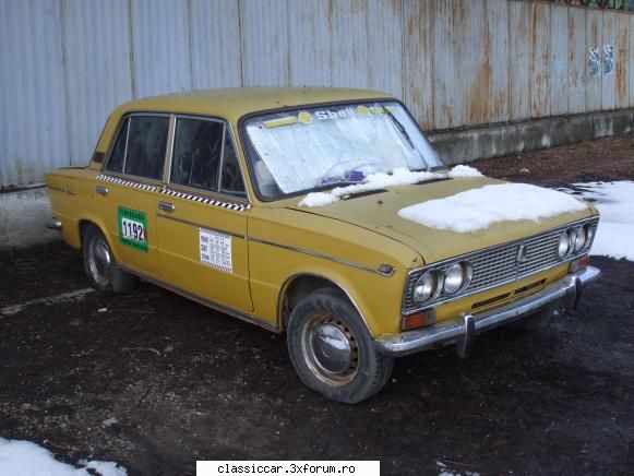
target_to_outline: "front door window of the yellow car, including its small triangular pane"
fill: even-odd
[[[231,135],[223,122],[177,119],[170,182],[247,197]]]

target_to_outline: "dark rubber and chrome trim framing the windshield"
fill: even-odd
[[[251,160],[252,154],[258,154],[258,152],[255,150],[255,146],[251,142],[251,138],[247,133],[246,123],[249,119],[253,119],[253,118],[259,117],[259,116],[266,116],[270,114],[279,114],[279,112],[299,110],[301,108],[318,108],[318,107],[322,107],[322,106],[346,106],[346,105],[356,105],[356,104],[358,105],[358,104],[364,104],[364,103],[378,103],[378,104],[397,103],[398,105],[400,105],[403,107],[403,110],[405,110],[405,112],[409,116],[409,118],[414,122],[415,127],[422,134],[424,140],[427,142],[429,142],[429,144],[433,147],[432,142],[429,140],[426,132],[420,128],[420,124],[418,123],[416,118],[411,115],[409,109],[405,106],[405,104],[403,104],[403,102],[400,99],[397,99],[395,97],[390,97],[390,96],[385,96],[383,98],[373,97],[373,98],[366,98],[366,99],[359,98],[359,99],[349,99],[349,100],[347,100],[347,99],[346,100],[330,100],[330,102],[325,102],[325,103],[308,103],[308,104],[299,104],[299,105],[295,105],[295,106],[284,106],[284,107],[274,108],[274,109],[262,109],[262,110],[249,112],[249,114],[242,116],[238,120],[238,133],[240,134],[240,143],[242,145],[242,153],[244,154],[244,159],[246,159],[244,162],[247,163],[247,168],[249,169],[249,180],[251,181],[251,188],[253,189],[253,193],[255,193],[255,197],[258,198],[258,200],[261,202],[264,202],[264,203],[278,202],[282,200],[291,199],[294,197],[307,195],[308,193],[312,193],[312,192],[331,190],[331,189],[338,187],[339,183],[328,183],[328,185],[325,185],[323,187],[313,187],[312,189],[300,190],[298,192],[284,193],[279,197],[276,197],[276,198],[268,198],[268,197],[262,195],[260,193],[260,185],[258,183],[258,179],[255,178],[255,171],[253,170],[253,164]],[[435,150],[435,147],[433,147],[433,150],[438,154],[438,151]],[[446,170],[447,169],[447,166],[446,166],[444,159],[441,157],[440,154],[438,156],[443,165],[431,167],[429,169],[430,171]]]

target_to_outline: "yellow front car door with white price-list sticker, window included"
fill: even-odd
[[[225,121],[176,117],[168,185],[158,207],[160,266],[167,283],[195,298],[251,311],[250,205]]]

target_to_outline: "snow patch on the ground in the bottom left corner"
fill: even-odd
[[[127,476],[128,471],[116,463],[104,461],[79,462],[81,468],[57,461],[52,453],[29,441],[0,438],[1,475],[46,475],[46,476]],[[93,469],[93,473],[86,471]]]

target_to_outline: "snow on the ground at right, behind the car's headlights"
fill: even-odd
[[[634,261],[634,182],[574,183],[575,193],[594,202],[601,218],[590,254]]]

